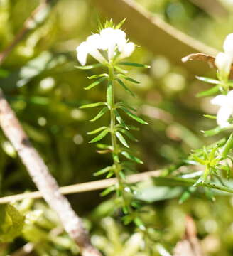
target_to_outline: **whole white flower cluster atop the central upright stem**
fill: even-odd
[[[124,31],[104,28],[99,33],[88,36],[85,42],[77,46],[77,60],[81,65],[86,65],[87,55],[90,54],[99,63],[110,63],[129,57],[134,48],[134,43],[127,41]]]

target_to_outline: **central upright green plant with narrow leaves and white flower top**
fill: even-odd
[[[136,162],[138,164],[143,164],[138,157],[132,154],[130,146],[126,141],[125,137],[131,139],[132,141],[137,141],[131,130],[136,130],[136,127],[132,127],[126,122],[124,122],[121,113],[124,112],[128,117],[131,117],[136,122],[141,124],[148,124],[141,117],[138,117],[134,112],[133,107],[130,107],[126,102],[116,102],[114,97],[114,90],[116,86],[121,87],[129,92],[131,96],[135,96],[134,92],[131,92],[129,87],[124,83],[124,80],[128,80],[133,83],[139,83],[138,81],[130,78],[127,75],[127,71],[122,69],[121,66],[131,66],[136,68],[148,68],[148,65],[142,65],[139,63],[124,62],[124,58],[127,58],[134,52],[135,45],[126,39],[126,33],[122,31],[121,25],[124,21],[121,21],[118,25],[114,26],[112,20],[106,21],[104,27],[99,25],[99,33],[94,33],[92,36],[87,37],[87,40],[77,47],[77,59],[79,60],[81,66],[77,68],[82,70],[89,70],[92,68],[103,67],[107,68],[107,73],[102,73],[98,75],[92,75],[89,77],[90,80],[97,79],[90,85],[85,87],[85,90],[90,90],[93,87],[106,82],[107,93],[106,102],[97,102],[87,105],[82,105],[81,108],[87,107],[102,107],[96,117],[91,119],[91,122],[97,121],[107,112],[109,113],[109,125],[99,127],[94,129],[88,134],[97,134],[90,143],[99,142],[107,134],[111,137],[111,144],[97,144],[100,148],[100,153],[111,153],[112,154],[112,165],[104,167],[97,171],[94,175],[99,176],[102,174],[106,175],[106,178],[116,176],[118,183],[114,186],[110,186],[102,192],[102,196],[116,191],[118,198],[120,199],[120,206],[124,211],[125,215],[130,215],[133,208],[137,207],[137,203],[132,199],[133,196],[129,194],[134,194],[134,188],[126,182],[126,171],[129,170],[129,162]],[[99,63],[94,65],[86,65],[87,55],[92,55]],[[133,218],[125,218],[126,223],[134,220],[134,222],[141,226],[141,221],[136,218],[135,214]]]

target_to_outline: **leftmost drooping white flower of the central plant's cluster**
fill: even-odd
[[[85,42],[80,43],[77,46],[77,60],[81,65],[86,65],[87,63],[87,55],[92,55],[93,58],[99,61],[99,63],[104,63],[106,61],[101,53],[99,53],[98,49],[102,48],[102,40],[99,34],[93,34],[92,36],[88,36]]]

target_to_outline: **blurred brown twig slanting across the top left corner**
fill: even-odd
[[[34,9],[26,21],[24,21],[23,28],[18,31],[10,45],[0,53],[0,65],[4,62],[5,58],[9,55],[9,53],[11,53],[15,46],[23,40],[24,36],[26,36],[26,34],[33,28],[35,28],[35,24],[38,23],[37,17],[39,16],[40,12],[45,11],[45,9],[48,8],[48,2],[49,0],[41,0],[36,9]]]

